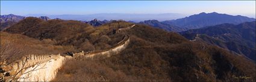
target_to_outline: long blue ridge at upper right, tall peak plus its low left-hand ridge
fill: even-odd
[[[140,22],[145,25],[155,28],[164,29],[166,31],[181,32],[187,29],[204,28],[205,26],[219,25],[223,23],[239,24],[243,22],[255,21],[254,18],[245,16],[231,16],[228,14],[219,13],[200,13],[189,17],[184,17],[176,20],[166,20],[159,22],[158,20],[145,20]]]

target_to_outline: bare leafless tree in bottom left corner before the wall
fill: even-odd
[[[28,65],[28,59],[29,57],[25,57],[25,59],[21,60],[21,65],[19,68],[14,69],[15,71],[12,71],[14,73],[10,74],[10,71],[4,70],[4,68],[7,68],[7,66],[10,66],[12,63],[16,63],[17,60],[20,60],[20,58],[23,58],[25,54],[28,53],[29,50],[26,50],[25,45],[14,45],[9,40],[3,41],[3,43],[0,46],[0,74],[2,75],[0,77],[0,81],[16,81],[20,77],[19,75],[27,74],[32,71],[36,71],[38,69],[37,66],[38,63],[34,63],[33,65]],[[20,63],[20,62],[19,62]],[[31,66],[35,66],[31,71],[24,72],[27,68],[30,68]],[[13,69],[13,68],[8,68]],[[41,68],[40,68],[41,69]],[[5,78],[8,77],[8,78]],[[23,77],[28,78],[28,77]],[[7,80],[8,79],[8,80]]]

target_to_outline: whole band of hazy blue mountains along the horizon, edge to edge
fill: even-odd
[[[186,31],[187,29],[196,29],[196,28],[203,28],[205,26],[213,26],[219,25],[222,23],[231,23],[231,24],[239,24],[243,22],[252,22],[255,21],[254,18],[249,18],[245,16],[231,16],[228,14],[219,14],[219,13],[200,13],[194,14],[189,17],[184,17],[178,19],[178,17],[183,17],[181,14],[119,14],[119,13],[102,13],[102,14],[89,14],[89,15],[47,15],[47,14],[28,14],[27,16],[36,16],[41,17],[39,15],[45,15],[45,19],[64,19],[64,20],[83,20],[82,22],[88,23],[92,26],[99,26],[103,25],[104,23],[108,23],[109,20],[117,19],[118,17],[123,17],[123,20],[129,20],[131,23],[139,22],[139,19],[142,20],[143,18],[147,18],[150,20],[143,19],[141,24],[153,26],[155,28],[164,29],[166,31],[172,32],[181,32]],[[48,16],[48,17],[46,17]],[[176,17],[175,20],[173,17]],[[24,19],[23,16],[16,16],[14,14],[4,15],[1,16],[1,27],[8,26],[6,22],[18,22],[21,19]],[[90,20],[88,19],[95,19],[100,18],[99,20]],[[161,18],[161,19],[160,19]],[[134,20],[136,19],[136,20]],[[151,20],[154,19],[154,20]],[[158,20],[162,20],[159,22]],[[103,21],[100,21],[103,20]],[[131,21],[134,20],[134,21]],[[163,21],[164,20],[164,21]]]

